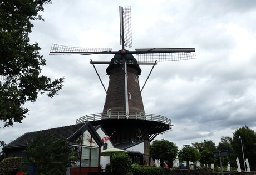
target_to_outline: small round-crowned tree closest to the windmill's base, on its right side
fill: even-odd
[[[168,140],[155,140],[149,146],[149,156],[153,159],[160,159],[160,164],[163,165],[164,160],[173,162],[178,154],[178,147],[175,143]]]

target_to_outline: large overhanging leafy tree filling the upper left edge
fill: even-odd
[[[4,127],[21,123],[28,113],[23,105],[35,102],[38,93],[53,97],[63,78],[54,81],[41,75],[46,60],[37,43],[31,44],[32,20],[43,20],[38,12],[51,0],[9,0],[0,2],[0,121]]]

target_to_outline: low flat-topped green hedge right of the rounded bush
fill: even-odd
[[[132,167],[132,172],[134,175],[170,175],[173,174],[170,168],[161,167]]]

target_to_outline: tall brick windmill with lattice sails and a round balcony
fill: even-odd
[[[144,153],[146,153],[150,141],[154,140],[159,133],[171,130],[173,125],[171,125],[171,120],[166,117],[145,113],[141,97],[141,90],[144,86],[140,89],[138,80],[141,74],[139,65],[153,65],[153,69],[161,61],[195,59],[195,48],[126,50],[125,47],[132,48],[131,7],[119,7],[119,10],[121,50],[112,51],[112,48],[78,48],[52,44],[50,54],[114,55],[111,61],[90,61],[94,68],[95,64],[108,64],[106,72],[109,75],[109,87],[107,90],[104,87],[106,101],[102,113],[80,117],[76,122],[91,121],[93,125],[101,125],[108,135],[115,130],[115,134],[111,137],[115,146],[144,142],[146,148]],[[99,74],[97,75],[99,76]]]

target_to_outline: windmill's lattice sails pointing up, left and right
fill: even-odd
[[[120,38],[122,50],[112,51],[112,48],[81,48],[68,47],[65,45],[52,44],[50,55],[56,54],[136,54],[137,61],[154,63],[155,61],[180,61],[196,59],[195,48],[150,48],[125,50],[124,47],[132,48],[131,36],[131,7],[119,7],[120,11]]]

